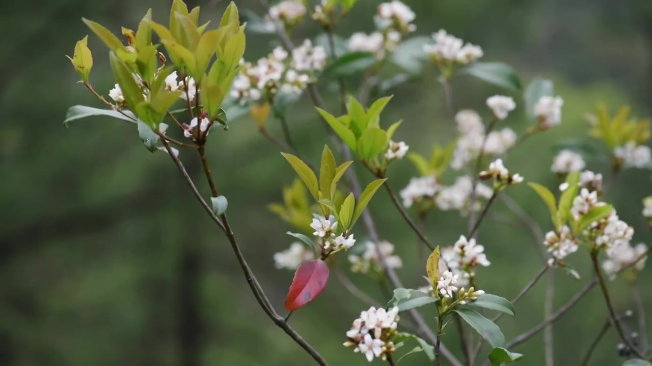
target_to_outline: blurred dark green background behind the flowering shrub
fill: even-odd
[[[132,126],[119,120],[82,120],[67,130],[63,121],[74,104],[101,107],[76,83],[66,54],[89,31],[82,16],[108,26],[136,27],[147,8],[166,23],[170,1],[3,1],[0,29],[0,365],[310,365],[303,350],[265,317],[246,286],[228,242],[216,230],[188,191],[175,167],[160,152],[150,154]],[[241,8],[262,13],[256,1],[236,1]],[[337,30],[371,31],[379,1],[359,1]],[[637,0],[457,0],[406,1],[417,12],[417,34],[440,28],[479,44],[483,61],[505,61],[527,82],[532,77],[554,79],[563,96],[563,124],[537,135],[511,156],[507,165],[527,180],[554,188],[550,173],[555,146],[569,139],[588,140],[583,116],[604,101],[612,109],[631,104],[634,113],[651,113],[652,2]],[[188,1],[203,7],[203,20],[218,20],[226,0],[209,7],[208,0]],[[308,24],[295,40],[316,35]],[[255,60],[275,44],[274,36],[249,35],[246,58]],[[93,35],[95,55],[91,75],[95,89],[108,92],[113,82],[106,48]],[[336,111],[338,100],[328,85],[320,85]],[[355,88],[351,81],[351,88]],[[505,91],[460,77],[453,81],[454,104],[485,113],[484,99]],[[391,91],[395,94],[383,124],[400,118],[397,132],[411,150],[428,154],[434,141],[454,136],[454,122],[443,105],[436,73],[426,70],[421,81]],[[518,96],[516,96],[518,97]],[[486,113],[485,113],[486,114]],[[310,100],[293,107],[289,120],[298,148],[316,161],[327,141]],[[275,121],[269,128],[280,136]],[[505,126],[527,128],[520,113]],[[256,131],[247,117],[232,122],[228,132],[215,130],[210,158],[220,191],[230,201],[231,225],[271,301],[282,309],[291,272],[274,269],[272,255],[288,247],[289,227],[266,208],[280,201],[282,186],[295,175]],[[589,168],[606,173],[606,150],[589,159]],[[182,158],[201,180],[198,159],[189,151]],[[363,182],[372,179],[356,167]],[[407,160],[389,173],[396,191],[417,171]],[[452,182],[454,176],[447,176]],[[649,244],[641,216],[641,199],[649,195],[649,171],[628,170],[617,178],[607,200],[636,229],[634,242]],[[208,193],[206,193],[208,194]],[[544,204],[522,185],[509,190],[543,229],[549,229]],[[415,235],[400,219],[384,191],[372,204],[381,236],[396,245],[405,266],[398,273],[411,287],[422,285],[418,274]],[[513,214],[503,204],[495,212]],[[364,238],[362,225],[355,231]],[[466,232],[466,219],[456,213],[428,218],[427,234],[438,244],[451,245]],[[492,266],[479,270],[482,287],[512,298],[541,268],[539,244],[520,227],[487,221],[479,241]],[[344,255],[340,262],[346,267]],[[587,255],[570,262],[584,277],[591,276]],[[345,268],[346,269],[346,268]],[[348,271],[348,269],[346,269]],[[642,274],[649,281],[650,271]],[[362,275],[353,280],[382,302],[378,283]],[[556,307],[584,283],[565,273],[556,275]],[[499,323],[507,339],[542,319],[541,281],[517,305],[516,318]],[[633,308],[625,281],[610,284],[618,311]],[[644,289],[645,300],[652,294]],[[649,288],[649,287],[647,287]],[[331,365],[365,365],[366,360],[342,347],[344,333],[364,304],[352,298],[333,277],[325,292],[293,315],[291,324]],[[578,365],[606,316],[594,289],[554,328],[557,365]],[[633,325],[633,322],[629,322]],[[449,328],[445,344],[456,348]],[[617,338],[610,331],[591,365],[620,365]],[[526,354],[522,365],[542,365],[542,337],[514,349]],[[486,354],[483,350],[482,354]],[[378,361],[378,363],[381,363]],[[402,361],[424,365],[422,356]]]

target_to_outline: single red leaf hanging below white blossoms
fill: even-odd
[[[311,302],[326,287],[328,266],[323,260],[310,260],[297,268],[286,298],[286,309],[295,311]]]

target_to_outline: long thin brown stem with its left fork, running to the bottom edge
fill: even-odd
[[[280,317],[276,311],[274,311],[274,308],[271,306],[271,303],[269,303],[269,299],[267,296],[265,296],[265,292],[263,292],[263,289],[260,287],[260,284],[258,283],[258,279],[256,279],[256,276],[253,274],[251,268],[247,264],[246,260],[244,259],[244,255],[242,251],[240,250],[240,247],[237,245],[237,242],[235,241],[235,236],[233,236],[233,231],[231,231],[231,228],[228,226],[228,221],[226,221],[226,215],[222,216],[223,221],[220,221],[220,218],[218,218],[214,213],[213,210],[211,209],[211,206],[206,203],[206,201],[203,199],[201,196],[201,193],[197,190],[197,187],[195,186],[194,182],[192,182],[192,178],[190,178],[190,175],[188,175],[188,172],[186,171],[185,167],[183,166],[183,163],[181,163],[181,160],[175,156],[173,153],[170,144],[168,141],[166,141],[165,138],[161,139],[163,146],[168,150],[168,154],[170,155],[170,158],[173,160],[173,162],[177,165],[177,168],[181,172],[181,175],[183,178],[185,178],[186,182],[188,183],[188,186],[190,186],[190,190],[192,190],[192,193],[194,193],[195,197],[197,200],[200,202],[201,206],[204,208],[204,210],[211,216],[213,221],[222,229],[222,231],[226,234],[226,236],[229,239],[229,242],[231,243],[231,247],[233,248],[233,251],[235,252],[235,256],[238,259],[238,262],[244,272],[244,277],[254,293],[254,297],[256,298],[256,301],[260,305],[260,307],[263,308],[263,311],[267,314],[269,318],[271,318],[274,321],[274,324],[276,324],[278,327],[280,327],[282,330],[286,332],[286,334],[291,337],[301,348],[303,348],[312,358],[321,366],[327,366],[328,363],[326,360],[317,352],[312,346],[310,346],[309,343],[307,343],[299,333],[297,333],[295,330],[293,330],[288,324],[285,323],[284,318]]]

